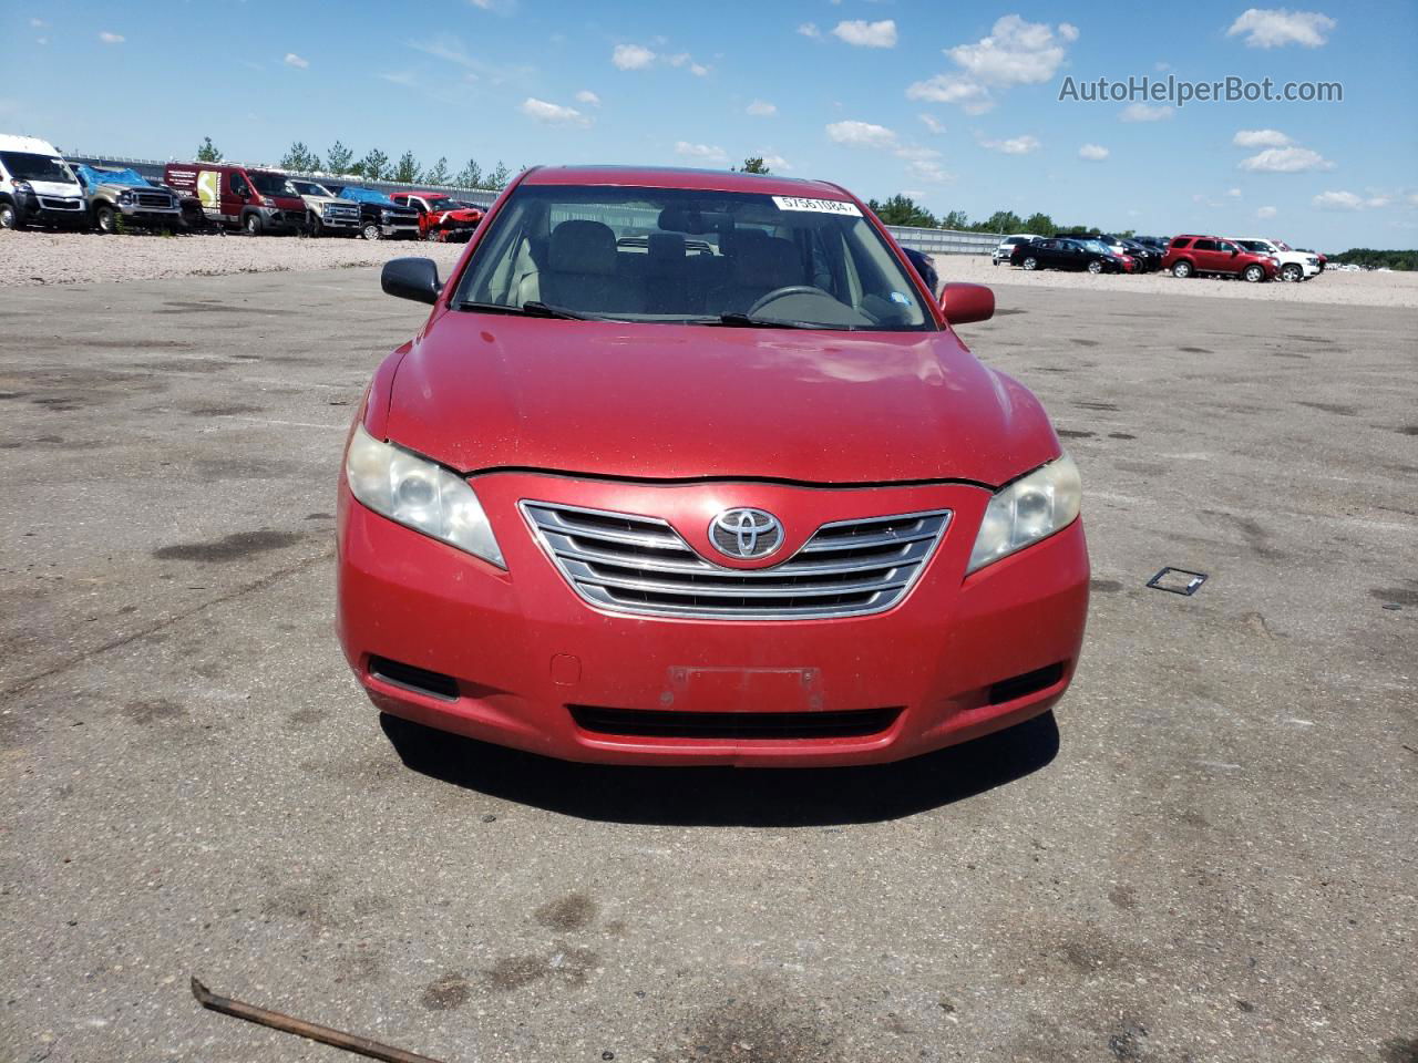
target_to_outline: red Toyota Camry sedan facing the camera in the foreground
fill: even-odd
[[[547,167],[374,373],[339,635],[383,712],[618,764],[891,761],[1049,709],[1088,611],[1038,400],[835,184]]]

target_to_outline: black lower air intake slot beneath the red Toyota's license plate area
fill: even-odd
[[[638,738],[864,738],[889,729],[900,709],[845,713],[669,713],[571,704],[583,731]]]

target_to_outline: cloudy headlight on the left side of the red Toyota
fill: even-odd
[[[444,466],[380,442],[359,425],[345,455],[345,475],[354,497],[376,513],[508,567],[478,496]]]

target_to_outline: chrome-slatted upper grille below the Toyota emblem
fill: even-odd
[[[586,601],[618,612],[712,619],[864,617],[896,605],[950,510],[822,524],[770,568],[712,564],[658,517],[523,502],[543,549]]]

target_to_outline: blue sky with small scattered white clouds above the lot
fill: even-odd
[[[1418,244],[1418,4],[899,0],[7,6],[0,130],[68,150],[726,166],[937,214]],[[16,30],[27,43],[16,38]],[[21,38],[26,40],[26,38]],[[1341,103],[1059,102],[1064,79],[1337,81]]]

